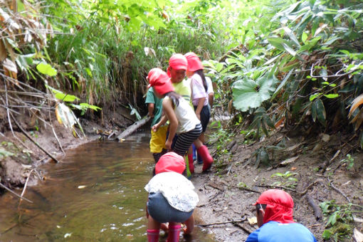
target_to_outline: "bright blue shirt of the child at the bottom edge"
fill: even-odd
[[[246,242],[316,242],[312,233],[300,223],[269,221],[251,233]]]

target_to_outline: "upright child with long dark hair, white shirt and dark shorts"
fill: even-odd
[[[201,126],[203,132],[199,137],[199,140],[204,144],[206,127],[211,118],[211,109],[209,107],[209,94],[208,83],[203,73],[203,65],[201,60],[195,53],[189,52],[184,55],[186,61],[188,61],[188,68],[186,70],[186,76],[190,79],[191,85],[191,102],[194,105],[196,116],[201,120]],[[209,164],[204,163],[204,167],[208,167]]]

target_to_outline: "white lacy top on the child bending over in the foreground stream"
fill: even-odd
[[[177,172],[157,174],[144,188],[149,193],[161,192],[170,206],[179,211],[189,212],[195,209],[199,202],[191,181]]]

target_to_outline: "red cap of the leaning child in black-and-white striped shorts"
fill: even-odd
[[[152,68],[147,75],[147,80],[149,80],[147,88],[154,87],[154,90],[159,93],[159,95],[174,91],[169,76],[160,68]]]

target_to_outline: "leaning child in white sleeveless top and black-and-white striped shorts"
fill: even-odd
[[[213,158],[205,145],[198,140],[201,134],[201,122],[196,117],[195,112],[181,95],[174,92],[174,87],[169,80],[167,73],[159,68],[153,68],[149,72],[149,87],[154,87],[155,94],[158,98],[164,98],[162,108],[165,116],[152,130],[157,131],[159,127],[169,120],[169,135],[165,147],[172,149],[177,154],[184,156],[191,144],[194,142],[197,151],[204,160],[203,172],[211,168]],[[177,142],[172,147],[174,135],[178,135]],[[189,166],[192,162],[189,162]]]

